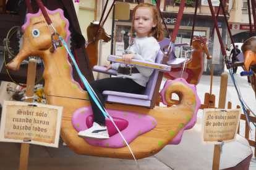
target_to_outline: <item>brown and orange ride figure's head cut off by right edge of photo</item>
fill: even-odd
[[[256,37],[247,39],[241,47],[242,53],[244,54],[244,67],[245,70],[249,71],[250,65],[256,64]]]

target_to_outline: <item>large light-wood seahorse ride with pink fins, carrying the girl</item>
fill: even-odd
[[[63,11],[61,9],[53,11],[46,9],[46,11],[57,33],[67,40],[70,34],[69,22],[64,18]],[[43,78],[45,79],[46,103],[64,108],[61,137],[67,146],[81,155],[133,159],[126,142],[122,140],[108,119],[106,119],[110,135],[108,140],[88,140],[77,136],[81,129],[85,130],[92,126],[93,115],[87,92],[83,91],[79,83],[75,82],[72,77],[72,67],[67,59],[66,49],[58,47],[56,52],[51,50],[53,48],[51,32],[41,10],[37,14],[27,14],[27,22],[22,28],[25,32],[22,49],[6,67],[12,71],[18,71],[22,60],[28,56],[43,59],[45,62]],[[58,36],[53,38],[56,40]],[[160,51],[158,54],[160,63],[163,56],[163,52]],[[150,79],[155,81],[155,76],[158,78],[158,75],[163,76],[160,71],[155,70]],[[160,83],[158,84],[156,96],[160,88]],[[154,86],[148,84],[147,88]],[[172,104],[169,96],[173,92],[179,95],[180,99],[179,103],[173,107],[154,105],[153,108],[150,108],[132,105],[129,104],[129,101],[147,103],[149,99],[146,99],[146,95],[137,95],[141,99],[134,99],[132,98],[134,96],[125,93],[117,99],[119,103],[106,103],[106,110],[119,127],[127,144],[129,143],[136,159],[155,155],[165,145],[179,144],[184,130],[191,129],[196,123],[197,110],[201,104],[195,85],[188,84],[182,78],[176,79],[176,81],[166,81],[161,91],[165,105]],[[121,104],[119,99],[124,97],[127,97],[125,99],[127,103]]]

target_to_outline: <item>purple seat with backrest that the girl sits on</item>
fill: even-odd
[[[165,64],[168,58],[164,56],[166,55],[160,49],[155,62]],[[103,91],[105,102],[122,103],[126,105],[136,105],[141,107],[154,108],[162,78],[163,78],[163,72],[154,70],[142,94],[129,94],[124,92]]]

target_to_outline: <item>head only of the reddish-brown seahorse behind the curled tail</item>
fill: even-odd
[[[192,47],[193,49],[197,49],[197,51],[199,52],[205,52],[208,60],[213,58],[209,54],[207,48],[207,38],[203,38],[202,36],[196,36],[195,38],[193,38]]]

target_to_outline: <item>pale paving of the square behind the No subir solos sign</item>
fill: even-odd
[[[247,83],[247,76],[242,77],[240,76],[242,68],[238,67],[237,74],[234,74],[234,78],[236,79],[236,82],[239,86],[239,89],[242,94],[242,98],[244,99],[245,103],[250,107],[252,111],[256,114],[256,100],[255,100],[255,93],[251,86],[249,86],[249,83]],[[227,89],[227,95],[226,95],[226,108],[228,107],[228,102],[232,103],[232,108],[236,108],[237,105],[241,106],[241,102],[239,101],[239,98],[237,96],[236,89],[234,87],[234,84],[231,80],[231,76],[229,75],[228,70],[224,70],[224,73],[228,74],[228,89]],[[161,89],[163,88],[164,82],[166,79],[163,79],[161,84]],[[220,76],[213,76],[213,86],[212,86],[212,94],[215,95],[215,107],[218,107],[219,97],[220,97]],[[210,93],[210,83],[211,83],[211,76],[208,75],[202,75],[200,79],[200,83],[197,85],[197,94],[199,99],[201,100],[201,103],[203,103],[205,98],[205,93]],[[160,89],[160,90],[161,90]],[[173,99],[179,99],[176,94],[173,95]],[[243,111],[242,111],[243,113]],[[251,113],[252,115],[252,113]],[[197,113],[198,118],[203,118],[203,110],[198,110]],[[250,127],[252,127],[252,131],[250,132],[249,139],[255,140],[255,126],[250,123]],[[244,137],[245,134],[245,121],[240,121],[240,134]],[[254,152],[254,147],[251,147],[252,151]],[[253,156],[252,160],[250,161],[250,170],[256,170],[256,158]]]

